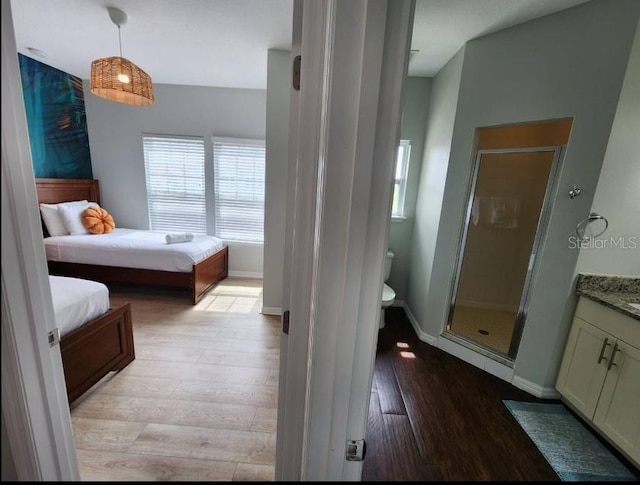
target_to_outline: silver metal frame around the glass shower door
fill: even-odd
[[[533,238],[533,244],[531,246],[531,252],[529,256],[529,265],[527,273],[524,279],[524,285],[522,287],[522,293],[520,296],[520,303],[518,305],[518,312],[516,314],[516,321],[514,331],[511,337],[511,343],[509,345],[509,353],[507,356],[499,354],[497,351],[489,349],[482,344],[473,341],[474,345],[479,345],[486,349],[490,353],[496,353],[500,355],[502,359],[505,357],[515,362],[517,357],[518,346],[520,345],[520,339],[522,338],[522,332],[527,319],[527,308],[532,290],[532,282],[537,269],[537,254],[540,249],[540,245],[546,235],[549,218],[551,216],[552,200],[558,188],[558,181],[560,179],[560,166],[562,164],[562,157],[565,152],[566,145],[558,146],[544,146],[544,147],[526,147],[526,148],[491,148],[476,150],[473,156],[473,164],[471,168],[471,178],[469,186],[467,188],[467,205],[465,209],[465,216],[462,220],[462,227],[460,228],[460,236],[458,238],[458,250],[456,253],[456,259],[454,263],[454,278],[451,283],[451,289],[449,293],[449,312],[447,320],[445,322],[444,332],[449,333],[447,327],[451,324],[453,317],[453,311],[456,304],[456,294],[458,292],[458,285],[460,283],[460,273],[462,271],[462,263],[464,257],[464,251],[467,243],[467,233],[469,230],[469,223],[471,221],[471,212],[473,209],[473,199],[478,181],[478,172],[480,171],[480,158],[482,155],[490,153],[533,153],[533,152],[554,152],[553,161],[549,169],[549,178],[545,188],[544,197],[542,199],[542,206],[540,208],[540,216],[538,217],[538,224],[536,226],[535,236]],[[454,335],[458,335],[453,332]],[[465,339],[466,340],[466,339]]]

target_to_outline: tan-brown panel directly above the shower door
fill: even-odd
[[[573,118],[486,126],[476,130],[478,150],[535,148],[566,145]]]

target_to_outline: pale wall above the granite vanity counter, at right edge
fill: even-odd
[[[580,250],[578,271],[640,276],[640,23],[592,208],[609,221],[601,241]],[[620,245],[614,246],[610,238]]]

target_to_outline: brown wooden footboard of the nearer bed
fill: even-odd
[[[69,404],[135,359],[131,304],[111,308],[60,339]]]

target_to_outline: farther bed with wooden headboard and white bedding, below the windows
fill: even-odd
[[[39,203],[89,200],[100,204],[95,179],[39,178],[36,188]],[[109,242],[105,236],[111,237]],[[128,245],[122,246],[123,241]],[[207,241],[217,246],[205,247]],[[93,246],[83,250],[85,243]],[[108,256],[111,259],[103,256],[105,248],[113,250]],[[164,234],[117,227],[109,235],[45,237],[45,250],[50,274],[103,283],[186,288],[194,305],[228,275],[228,247],[212,236],[195,236],[192,242],[168,245]]]

